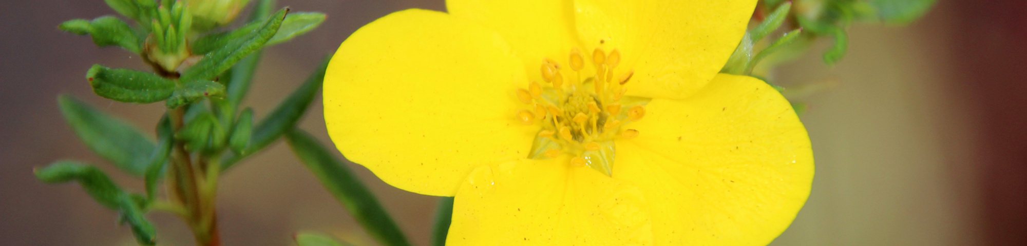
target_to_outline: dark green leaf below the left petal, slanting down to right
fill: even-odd
[[[296,156],[368,231],[368,234],[382,245],[410,245],[407,237],[378,203],[378,199],[368,191],[345,163],[303,130],[293,129],[286,135],[286,139]]]

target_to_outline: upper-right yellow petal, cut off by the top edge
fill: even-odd
[[[617,73],[635,70],[627,94],[685,98],[734,51],[756,0],[577,0],[576,26],[591,50],[620,50]]]

